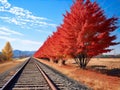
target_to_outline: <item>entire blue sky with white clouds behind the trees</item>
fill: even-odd
[[[120,18],[120,0],[96,1],[106,16]],[[13,49],[37,50],[62,23],[72,3],[73,0],[0,0],[0,50],[6,41]],[[120,29],[113,34],[120,42]],[[111,48],[115,49],[111,53],[120,51],[120,45]]]

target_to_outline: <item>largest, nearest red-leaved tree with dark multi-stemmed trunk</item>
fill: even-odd
[[[109,52],[108,47],[117,44],[113,42],[115,35],[110,35],[117,28],[116,21],[115,17],[107,18],[96,2],[76,0],[61,25],[65,33],[61,36],[67,39],[64,52],[85,68],[93,56]]]

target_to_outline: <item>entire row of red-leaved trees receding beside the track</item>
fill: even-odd
[[[107,18],[96,2],[76,0],[70,12],[64,15],[63,24],[57,27],[34,54],[38,58],[65,60],[74,58],[81,68],[85,68],[93,56],[109,52],[113,40],[117,18]]]

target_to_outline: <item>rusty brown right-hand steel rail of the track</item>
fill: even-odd
[[[48,85],[52,90],[58,90],[58,88],[54,85],[54,83],[49,79],[49,77],[46,75],[46,73],[42,70],[42,68],[38,65],[38,63],[35,62],[35,65],[37,66],[38,70],[43,75],[44,79],[47,81]]]

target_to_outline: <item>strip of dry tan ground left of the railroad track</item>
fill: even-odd
[[[26,59],[19,59],[19,60],[6,61],[6,62],[3,62],[3,63],[0,63],[0,73],[3,73],[8,69],[17,66],[18,64],[22,63],[25,60]]]

